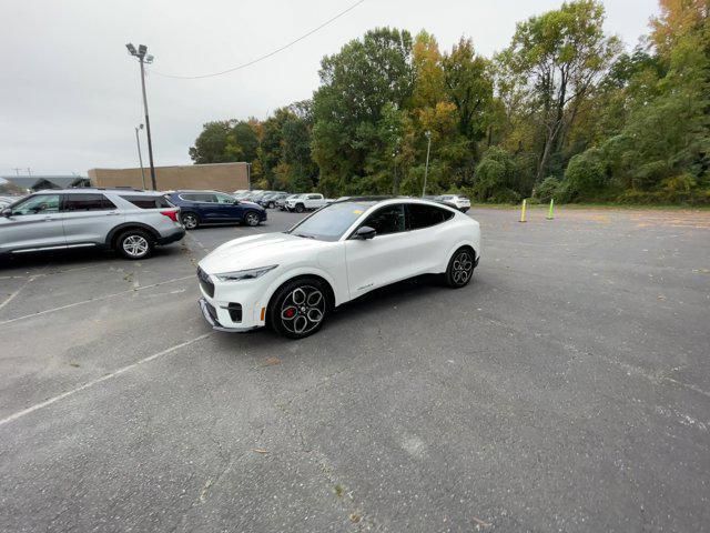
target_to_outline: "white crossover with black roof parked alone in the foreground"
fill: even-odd
[[[420,274],[466,285],[480,228],[464,213],[405,198],[348,198],[283,233],[226,242],[200,261],[205,320],[221,331],[268,325],[291,339],[318,331],[338,305]]]

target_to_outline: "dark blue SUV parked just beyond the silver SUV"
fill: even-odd
[[[266,221],[266,210],[252,202],[236,200],[217,191],[171,191],[165,198],[180,208],[186,230],[202,224],[242,223],[258,225]]]

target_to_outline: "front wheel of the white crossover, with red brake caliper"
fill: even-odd
[[[284,283],[272,296],[266,325],[288,339],[304,339],[323,326],[331,306],[331,291],[323,281],[297,278]]]

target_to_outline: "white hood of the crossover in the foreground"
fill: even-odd
[[[283,264],[283,261],[294,261],[294,257],[303,260],[308,252],[317,253],[324,244],[287,233],[242,237],[216,248],[200,261],[200,268],[214,274]]]

